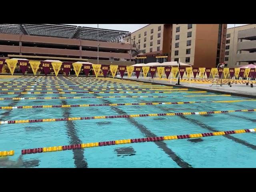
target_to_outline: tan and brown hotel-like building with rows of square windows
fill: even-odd
[[[127,43],[140,55],[166,54],[169,61],[194,67],[215,67],[224,62],[227,24],[149,24],[131,34]]]

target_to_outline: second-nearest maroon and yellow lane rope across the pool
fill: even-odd
[[[148,117],[148,116],[205,115],[205,114],[217,114],[217,113],[254,112],[254,111],[256,111],[256,109],[208,111],[208,112],[204,111],[204,112],[182,112],[182,113],[154,113],[154,114],[134,114],[134,115],[90,116],[90,117],[87,116],[87,117],[36,119],[36,120],[9,120],[9,121],[0,121],[0,124],[72,121],[72,120],[105,119],[105,118],[130,118],[130,117]]]

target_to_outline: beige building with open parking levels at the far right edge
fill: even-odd
[[[228,67],[256,62],[256,24],[228,28],[225,62]]]

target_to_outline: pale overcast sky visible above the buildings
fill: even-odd
[[[97,28],[97,24],[70,24],[70,25]],[[147,24],[99,24],[99,28],[134,32],[146,25]],[[241,26],[241,25],[246,25],[246,24],[236,24],[236,26]],[[234,27],[234,24],[228,24],[228,28],[231,28],[231,27]]]

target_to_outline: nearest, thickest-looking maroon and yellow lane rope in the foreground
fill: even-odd
[[[162,140],[220,136],[220,135],[228,135],[228,134],[249,133],[249,132],[255,132],[255,131],[256,131],[256,128],[232,130],[232,131],[221,131],[221,132],[198,133],[198,134],[186,134],[186,135],[171,135],[171,136],[146,137],[146,138],[136,138],[136,139],[122,139],[122,140],[114,140],[114,141],[72,144],[72,145],[65,145],[65,146],[23,149],[23,150],[21,150],[21,154],[24,155],[24,154],[32,154],[32,153],[54,152],[54,151],[73,150],[73,149],[80,149],[80,148],[87,148],[87,147],[100,147],[100,146],[138,143],[138,142],[156,142],[156,141],[162,141]]]

